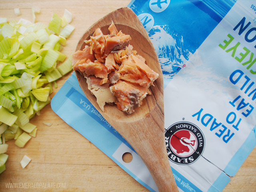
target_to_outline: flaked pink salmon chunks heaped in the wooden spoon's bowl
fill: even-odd
[[[119,110],[132,114],[150,93],[158,78],[145,58],[130,45],[131,36],[118,31],[112,22],[109,34],[97,28],[86,46],[72,54],[73,70],[87,80],[102,111],[104,105],[116,104]]]

